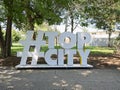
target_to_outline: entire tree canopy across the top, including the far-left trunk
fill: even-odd
[[[71,20],[72,32],[77,21],[82,26],[91,23],[106,29],[110,37],[116,23],[120,22],[120,0],[0,0],[2,51],[5,56],[10,55],[12,25],[34,30],[35,24],[59,24],[63,19],[67,23],[67,18]],[[3,23],[5,39],[1,32]]]

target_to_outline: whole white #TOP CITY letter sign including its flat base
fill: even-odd
[[[28,31],[26,40],[20,43],[24,46],[23,52],[17,52],[17,56],[21,57],[21,62],[16,68],[72,68],[72,67],[92,67],[87,64],[87,58],[90,50],[84,50],[84,44],[89,43],[91,36],[89,33],[70,33],[63,32],[42,32],[38,31],[36,39],[33,40],[34,31]],[[43,37],[48,37],[45,41]],[[69,42],[66,42],[68,38]],[[55,43],[56,42],[56,43]],[[41,47],[48,45],[46,52],[41,51]],[[59,45],[60,49],[55,49],[55,46]],[[34,46],[34,51],[29,51],[30,47]],[[73,49],[73,47],[77,49]],[[80,64],[74,64],[73,57],[75,54],[79,54],[81,61]],[[51,56],[57,55],[57,58],[53,59]],[[64,55],[67,55],[67,64],[64,64]],[[32,57],[31,64],[26,64],[27,58]],[[37,64],[38,58],[43,57],[47,64]]]

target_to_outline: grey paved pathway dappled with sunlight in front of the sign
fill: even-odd
[[[120,70],[0,67],[0,90],[120,90]]]

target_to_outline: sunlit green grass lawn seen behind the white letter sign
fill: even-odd
[[[58,49],[58,48],[60,48],[60,46],[56,46],[55,48]],[[16,55],[17,52],[23,50],[23,46],[19,43],[13,43],[11,49],[12,49],[12,55]],[[86,49],[90,49],[91,54],[93,54],[93,55],[94,54],[98,54],[98,55],[105,54],[106,55],[106,54],[113,54],[114,53],[114,48],[110,48],[110,47],[87,46]],[[47,50],[48,50],[47,46],[42,47],[42,51],[47,51]],[[33,51],[33,48],[31,51]]]

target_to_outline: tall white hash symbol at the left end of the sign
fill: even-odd
[[[40,52],[40,47],[45,45],[45,41],[42,41],[44,32],[39,31],[36,40],[33,40],[34,31],[27,31],[26,40],[20,41],[24,46],[23,52],[17,52],[17,56],[21,57],[20,65],[26,65],[27,58],[32,57],[31,65],[36,65],[38,58],[43,57],[44,53]],[[29,48],[34,46],[34,51],[30,52]]]

